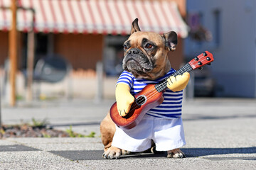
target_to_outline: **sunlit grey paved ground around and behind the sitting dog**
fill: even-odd
[[[0,169],[256,169],[256,100],[197,98],[183,102],[185,159],[165,154],[102,158],[100,121],[114,101],[82,99],[18,102],[1,108],[4,124],[48,120],[95,137],[7,138],[0,140]]]

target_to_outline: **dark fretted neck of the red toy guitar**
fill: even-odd
[[[185,72],[191,72],[192,70],[193,70],[193,68],[191,67],[191,65],[189,63],[187,63],[181,69],[178,69],[177,72],[174,72],[173,74],[171,74],[171,76],[176,77],[178,75],[182,75]],[[171,76],[169,76],[169,77],[171,77]],[[161,92],[167,88],[167,79],[169,79],[169,77],[167,77],[166,79],[161,81],[159,84],[155,85],[156,91]]]

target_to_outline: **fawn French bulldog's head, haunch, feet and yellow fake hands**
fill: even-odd
[[[122,67],[125,71],[132,73],[137,79],[156,80],[163,77],[171,69],[168,52],[174,51],[178,44],[177,34],[174,31],[159,35],[158,33],[143,32],[136,18],[132,22],[131,35],[124,42],[124,59]],[[185,80],[173,77],[170,79],[168,88],[179,91],[186,87],[189,74],[184,75]],[[178,85],[175,85],[175,81]],[[174,86],[172,86],[174,84]],[[117,84],[116,99],[120,116],[125,116],[134,102],[134,97],[129,93],[129,86]],[[105,146],[103,157],[105,159],[119,159],[122,154],[129,151],[112,146],[116,126],[110,118],[110,113],[100,124],[102,143]],[[153,142],[154,145],[154,142]],[[152,145],[152,146],[153,146]],[[180,149],[167,151],[167,157],[183,158],[185,154]]]

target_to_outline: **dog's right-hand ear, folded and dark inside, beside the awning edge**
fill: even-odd
[[[174,31],[170,31],[169,33],[164,33],[162,35],[165,40],[165,45],[170,51],[174,51],[176,49],[176,45],[178,44],[178,36]]]

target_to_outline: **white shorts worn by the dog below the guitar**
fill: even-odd
[[[157,151],[168,151],[186,145],[182,119],[144,115],[141,122],[130,130],[116,126],[112,146],[142,152],[151,147],[151,140],[154,140]]]

